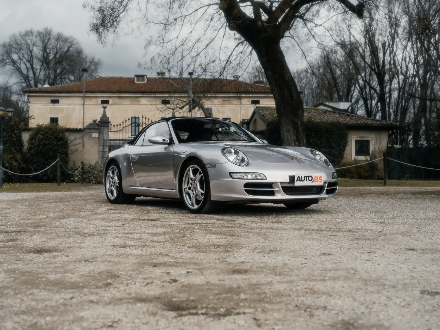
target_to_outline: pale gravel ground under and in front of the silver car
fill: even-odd
[[[0,194],[0,329],[440,329],[440,188],[193,215]]]

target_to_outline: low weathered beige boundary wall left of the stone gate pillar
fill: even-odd
[[[22,139],[27,148],[30,130],[22,132]],[[69,137],[69,166],[77,166],[84,161],[84,164],[95,164],[98,162],[98,127],[85,128],[84,131],[66,132]]]

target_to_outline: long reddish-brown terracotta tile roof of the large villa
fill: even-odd
[[[136,83],[134,77],[97,77],[86,79],[88,93],[179,93],[189,89],[189,78],[148,78]],[[268,86],[232,79],[194,78],[196,93],[271,93]],[[26,93],[82,93],[83,81],[51,87],[29,88]]]

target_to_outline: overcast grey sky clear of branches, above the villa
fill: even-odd
[[[121,37],[116,44],[103,47],[88,33],[89,13],[82,9],[84,0],[0,0],[0,42],[12,33],[25,29],[51,27],[66,35],[76,37],[88,54],[103,60],[102,76],[133,76],[138,73],[153,74],[138,69],[145,62],[142,37]],[[301,56],[287,56],[290,68],[301,65]],[[155,72],[154,72],[155,74]],[[0,81],[5,77],[1,76]]]

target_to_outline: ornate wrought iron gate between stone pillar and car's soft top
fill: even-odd
[[[109,128],[109,152],[121,148],[125,143],[133,139],[139,131],[150,124],[152,120],[147,116],[129,117],[118,124],[110,123]]]

